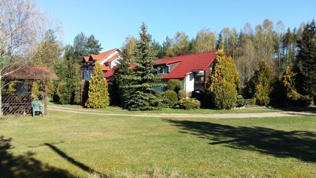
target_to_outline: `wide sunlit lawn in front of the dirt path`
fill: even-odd
[[[314,116],[172,119],[50,111],[44,118],[0,119],[0,125],[0,177],[316,174]]]

